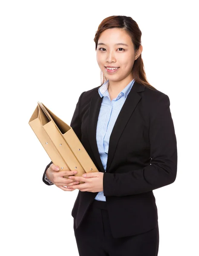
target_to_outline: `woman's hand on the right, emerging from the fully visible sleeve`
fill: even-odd
[[[83,174],[86,177],[81,176],[70,176],[69,179],[84,181],[85,183],[73,186],[67,186],[70,189],[79,189],[80,191],[88,191],[88,192],[100,192],[103,191],[103,177],[104,172],[88,172]]]

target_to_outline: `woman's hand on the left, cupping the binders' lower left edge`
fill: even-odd
[[[58,168],[57,168],[58,167]],[[70,171],[69,169],[66,171],[59,171],[59,166],[55,164],[51,164],[49,168],[46,170],[46,177],[55,184],[58,188],[64,191],[73,191],[75,189],[68,189],[65,186],[72,186],[79,184],[79,181],[72,181],[70,179],[64,178],[65,175],[74,175],[75,171]]]

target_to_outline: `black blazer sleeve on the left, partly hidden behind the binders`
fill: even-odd
[[[78,102],[76,104],[75,107],[75,112],[72,116],[71,119],[71,123],[70,126],[72,127],[72,129],[75,131],[75,134],[78,136],[79,140],[81,141],[81,119],[80,119],[80,101],[81,101],[81,96],[84,94],[85,92],[81,93],[81,95],[79,96]],[[45,179],[45,174],[46,174],[46,170],[49,168],[49,166],[52,164],[52,161],[46,166],[45,171],[43,172],[43,177],[42,180],[46,185],[53,185],[54,183],[48,181],[48,179]]]

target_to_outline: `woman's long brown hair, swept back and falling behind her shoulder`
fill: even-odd
[[[141,30],[138,27],[138,24],[132,17],[127,16],[110,16],[102,20],[98,26],[98,30],[95,33],[95,50],[97,49],[98,39],[101,33],[106,29],[111,28],[120,28],[124,29],[129,35],[134,45],[134,50],[136,51],[141,45]],[[146,73],[144,70],[144,63],[141,58],[141,55],[134,61],[132,74],[135,81],[139,84],[142,84],[150,89],[156,89],[147,81]],[[104,76],[104,73],[101,71],[101,85],[104,84],[108,79]]]

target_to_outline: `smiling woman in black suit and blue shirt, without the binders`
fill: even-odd
[[[94,41],[102,83],[81,93],[70,125],[99,172],[65,179],[74,170],[57,172],[51,162],[43,181],[79,189],[72,216],[80,256],[157,256],[153,189],[173,183],[177,172],[170,100],[146,79],[131,17],[107,17]]]

